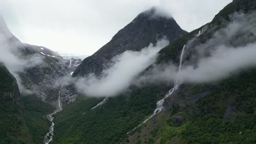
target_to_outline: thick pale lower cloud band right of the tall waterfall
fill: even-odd
[[[236,48],[222,45],[211,57],[200,59],[197,68],[185,67],[179,79],[190,83],[218,81],[251,67],[256,67],[256,43]]]

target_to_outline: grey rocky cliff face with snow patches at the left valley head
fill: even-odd
[[[35,67],[26,69],[20,74],[23,84],[27,89],[36,93],[37,97],[48,102],[54,102],[59,97],[60,87],[67,85],[64,77],[71,76],[72,72],[81,63],[80,59],[65,59],[58,53],[42,46],[24,44],[25,53],[42,60]],[[69,92],[65,92],[69,93]],[[69,93],[69,95],[72,95]],[[61,94],[62,101],[72,99]],[[75,98],[75,97],[74,97]]]

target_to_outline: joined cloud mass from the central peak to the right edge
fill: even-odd
[[[160,41],[156,47],[150,45],[140,52],[126,51],[113,59],[113,65],[103,71],[101,78],[91,74],[76,82],[78,91],[92,97],[110,97],[125,92],[131,85],[144,86],[149,83],[207,83],[223,80],[242,70],[256,67],[256,13],[249,15],[234,14],[230,16],[231,22],[214,32],[213,37],[206,43],[193,47],[194,40],[203,37],[206,28],[200,37],[188,41],[186,52],[190,61],[183,58],[182,69],[178,71],[173,63],[156,65],[158,51],[166,46],[166,41]],[[190,51],[191,52],[191,51]],[[188,53],[187,53],[188,54]],[[153,65],[152,65],[153,64]],[[152,65],[144,75],[139,76],[143,70]]]

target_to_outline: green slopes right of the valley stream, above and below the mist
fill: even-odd
[[[212,22],[162,49],[156,64],[171,61],[178,65],[185,44],[189,44],[189,48],[184,64],[196,63],[198,59],[191,57],[200,54],[195,53],[196,46],[206,43],[214,33],[226,27],[231,20],[229,15],[236,11],[249,14],[256,9],[255,6],[255,1],[233,1]],[[206,31],[196,36],[203,28]],[[223,43],[241,46],[256,41],[255,35],[252,34],[252,39],[243,39],[243,34],[247,35],[239,35],[242,42],[238,39],[240,37],[232,37]],[[191,39],[194,40],[189,41]],[[53,143],[255,143],[254,73],[254,69],[243,71],[207,85],[183,84],[166,99],[164,111],[134,131],[133,128],[152,115],[156,102],[172,86],[132,87],[131,93],[109,98],[93,110],[90,110],[90,105],[82,106],[89,103],[89,99],[80,99],[82,102],[69,105],[56,115]],[[77,109],[79,111],[74,113],[73,110]]]

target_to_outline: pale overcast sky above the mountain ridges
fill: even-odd
[[[92,55],[139,13],[153,6],[190,32],[232,0],[0,0],[0,13],[22,43]]]

